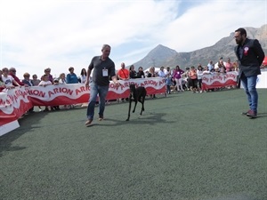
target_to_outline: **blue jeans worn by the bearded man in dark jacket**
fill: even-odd
[[[245,92],[247,93],[247,100],[249,108],[257,112],[258,108],[258,92],[256,91],[257,76],[240,77]]]

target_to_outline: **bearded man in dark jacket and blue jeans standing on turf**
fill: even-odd
[[[261,74],[263,48],[257,39],[247,38],[247,31],[244,28],[237,29],[234,38],[238,44],[234,51],[239,61],[239,77],[249,104],[249,110],[242,114],[255,118],[258,107],[258,93],[255,86],[257,76]]]

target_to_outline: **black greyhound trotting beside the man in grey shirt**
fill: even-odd
[[[144,100],[145,100],[146,95],[147,95],[147,91],[144,87],[139,86],[139,87],[135,88],[135,84],[130,84],[129,111],[128,111],[128,118],[126,119],[126,121],[129,121],[129,119],[130,119],[132,100],[134,100],[134,103],[135,103],[133,113],[135,112],[137,101],[142,103],[142,109],[141,109],[141,113],[140,113],[140,115],[142,116],[142,111],[144,111],[143,104],[144,104]]]

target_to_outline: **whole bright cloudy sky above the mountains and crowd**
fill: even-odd
[[[74,67],[78,76],[102,44],[118,69],[158,44],[191,52],[264,24],[267,0],[0,0],[0,68],[23,78]]]

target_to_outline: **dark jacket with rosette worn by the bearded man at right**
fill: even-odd
[[[239,51],[241,48],[242,51]],[[240,53],[239,53],[240,52]],[[257,76],[261,74],[260,66],[264,60],[264,52],[257,39],[247,39],[243,46],[235,47],[235,53],[239,61],[239,76]]]

